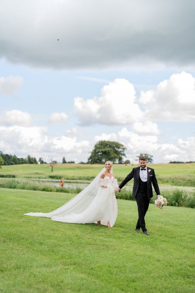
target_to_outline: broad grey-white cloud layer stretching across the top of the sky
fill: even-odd
[[[0,58],[64,69],[194,68],[194,8],[178,0],[3,1]]]

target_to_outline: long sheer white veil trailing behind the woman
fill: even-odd
[[[63,206],[59,207],[48,213],[43,212],[29,212],[25,213],[26,216],[34,216],[34,217],[46,217],[52,218],[53,216],[67,216],[70,214],[79,214],[82,213],[87,207],[91,204],[93,199],[95,198],[98,192],[98,180],[100,178],[101,173],[105,171],[105,167],[98,173],[96,178],[81,192],[79,192],[75,197],[73,197],[70,201],[68,201]]]

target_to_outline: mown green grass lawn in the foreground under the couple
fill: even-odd
[[[113,229],[23,215],[72,196],[0,188],[0,293],[195,292],[195,209],[150,205],[150,236],[135,201],[117,201]]]

